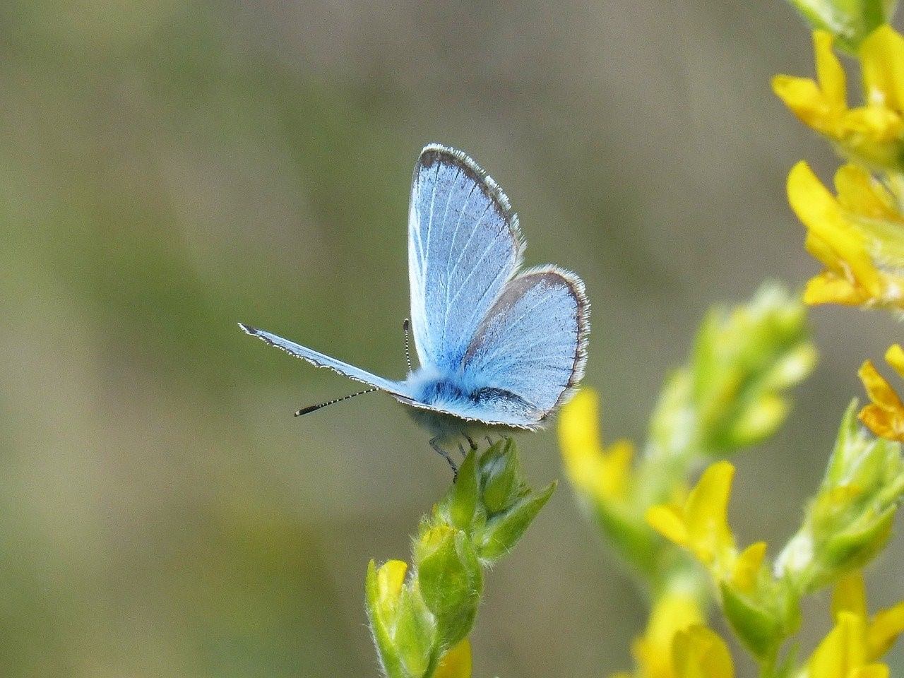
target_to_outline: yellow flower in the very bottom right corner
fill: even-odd
[[[889,667],[876,660],[904,631],[904,603],[868,617],[862,574],[835,586],[835,626],[807,662],[808,678],[887,678]]]

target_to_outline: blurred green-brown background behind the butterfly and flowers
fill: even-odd
[[[376,675],[365,565],[407,557],[447,466],[385,396],[293,419],[353,384],[236,322],[400,377],[440,141],[505,187],[529,264],[587,281],[586,382],[608,438],[642,437],[707,306],[817,269],[785,175],[834,160],[768,88],[811,58],[778,0],[0,4],[0,674]],[[815,377],[737,460],[733,522],[773,553],[899,340],[813,320]],[[554,431],[521,443],[560,476]],[[476,675],[604,675],[644,618],[562,486],[487,579]]]

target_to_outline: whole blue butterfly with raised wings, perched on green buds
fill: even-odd
[[[414,168],[408,227],[418,370],[409,364],[404,381],[391,381],[240,326],[371,387],[362,392],[386,391],[410,405],[415,419],[433,432],[431,447],[455,468],[441,442],[488,427],[540,428],[584,372],[589,334],[584,284],[554,266],[519,272],[523,251],[518,217],[502,189],[461,151],[431,144]]]

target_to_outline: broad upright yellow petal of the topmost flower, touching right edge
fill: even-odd
[[[873,31],[860,48],[863,86],[874,106],[902,110],[904,105],[904,38],[886,24]]]

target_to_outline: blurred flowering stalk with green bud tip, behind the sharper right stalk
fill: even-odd
[[[730,465],[713,466],[692,491],[688,481],[703,463],[772,435],[786,418],[786,391],[815,359],[804,306],[766,286],[748,304],[707,315],[688,363],[665,383],[641,458],[626,441],[601,445],[593,391],[580,391],[563,409],[560,442],[571,483],[652,600],[649,625],[634,645],[636,676],[733,671],[724,642],[703,626],[719,591],[695,560],[746,591],[757,583],[765,545],[739,553],[730,538],[723,514]]]

